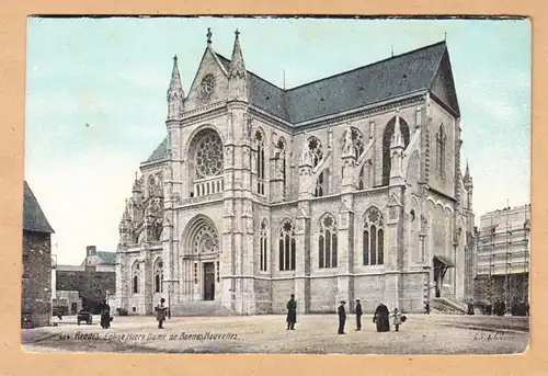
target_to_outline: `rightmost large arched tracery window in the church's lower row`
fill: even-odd
[[[383,214],[375,207],[365,213],[363,230],[364,265],[385,263],[385,230]]]

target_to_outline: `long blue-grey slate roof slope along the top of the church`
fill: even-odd
[[[289,123],[311,121],[430,89],[446,53],[439,42],[288,90],[248,71],[249,100]],[[217,56],[228,69],[230,60]]]

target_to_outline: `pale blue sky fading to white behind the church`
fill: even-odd
[[[295,87],[421,46],[447,44],[475,212],[529,203],[530,23],[484,20],[28,19],[26,161],[60,263],[114,251],[134,173],[165,135],[172,57],[185,91],[206,46]],[[91,126],[85,127],[89,123]],[[463,169],[464,169],[463,166]]]

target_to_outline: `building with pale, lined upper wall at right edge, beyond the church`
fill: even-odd
[[[506,307],[528,304],[530,204],[505,207],[480,217],[475,301]]]

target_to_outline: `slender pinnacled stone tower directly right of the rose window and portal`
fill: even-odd
[[[221,301],[226,308],[255,312],[253,266],[253,186],[251,118],[248,84],[238,30],[228,70],[227,139],[225,143]]]

